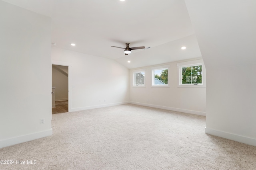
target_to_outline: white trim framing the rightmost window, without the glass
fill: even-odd
[[[202,84],[182,84],[182,67],[189,67],[189,66],[197,66],[202,65]],[[204,66],[204,61],[201,60],[194,60],[194,61],[187,61],[182,63],[177,63],[177,86],[178,87],[191,87],[191,88],[205,88],[206,87],[206,69]]]

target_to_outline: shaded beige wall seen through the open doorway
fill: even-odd
[[[68,100],[68,66],[52,66],[52,86],[55,86],[55,101]]]

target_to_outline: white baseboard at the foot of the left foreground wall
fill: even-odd
[[[14,137],[14,138],[4,139],[4,140],[0,141],[0,148],[32,141],[35,139],[39,139],[39,138],[47,137],[47,136],[51,136],[51,135],[52,135],[52,128],[49,130],[46,130],[46,131],[41,131],[41,132],[37,132],[37,133],[31,133],[28,135],[22,135],[22,136],[18,136],[18,137]]]

